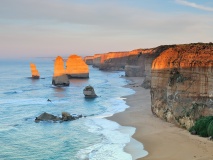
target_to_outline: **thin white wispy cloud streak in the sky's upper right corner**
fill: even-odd
[[[196,3],[189,2],[186,0],[175,0],[175,1],[176,1],[176,3],[181,4],[181,5],[197,8],[197,9],[204,10],[204,11],[213,12],[213,7],[207,7],[207,6],[196,4]]]

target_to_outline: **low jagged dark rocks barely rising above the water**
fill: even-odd
[[[35,118],[35,122],[40,122],[40,121],[53,121],[53,122],[56,122],[56,121],[60,121],[60,122],[73,121],[73,120],[76,120],[76,119],[79,119],[79,118],[82,118],[82,117],[83,117],[82,115],[76,115],[76,114],[71,115],[68,112],[62,112],[62,117],[54,116],[52,114],[44,112],[40,116]]]

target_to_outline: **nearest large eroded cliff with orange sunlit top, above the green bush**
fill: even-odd
[[[151,109],[158,117],[190,128],[213,115],[213,44],[170,47],[152,63]]]

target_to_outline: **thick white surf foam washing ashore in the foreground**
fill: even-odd
[[[89,160],[134,159],[130,154],[124,152],[124,147],[132,140],[131,136],[134,134],[135,128],[123,127],[116,122],[99,117],[88,118],[87,120],[86,125],[89,127],[89,131],[102,136],[102,141],[80,150],[76,155],[77,158]],[[140,151],[137,151],[142,154],[137,154],[136,157],[146,155],[145,151],[143,153],[143,145],[137,146],[140,149]]]

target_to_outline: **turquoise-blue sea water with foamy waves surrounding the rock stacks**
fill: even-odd
[[[30,79],[29,63],[41,79]],[[90,66],[89,79],[71,79],[69,87],[51,85],[53,60],[0,60],[0,159],[5,160],[131,160],[124,152],[135,128],[122,128],[105,119],[128,106],[121,96],[134,91],[123,86],[124,72],[103,72]],[[94,87],[95,99],[85,99],[85,86]],[[47,101],[50,99],[51,102]],[[70,122],[39,122],[47,112],[86,116]],[[124,132],[125,130],[125,132]],[[141,155],[147,152],[141,150]]]

